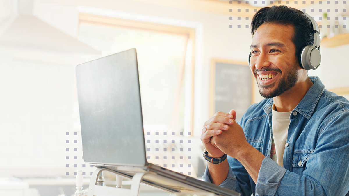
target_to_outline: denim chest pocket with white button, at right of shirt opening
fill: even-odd
[[[306,169],[306,163],[312,152],[312,150],[295,150],[292,156],[292,172],[303,175],[303,171]]]

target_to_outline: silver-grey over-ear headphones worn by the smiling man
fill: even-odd
[[[307,13],[303,12],[304,15],[306,15],[312,25],[313,25],[313,31],[314,31],[314,43],[313,45],[307,45],[305,46],[302,51],[300,52],[299,58],[300,58],[300,66],[303,69],[310,70],[310,69],[317,69],[321,62],[321,53],[320,53],[320,29],[318,24],[314,21],[312,17],[310,17]],[[250,55],[248,56],[248,65],[250,65],[250,59],[251,59],[252,53],[250,52]]]

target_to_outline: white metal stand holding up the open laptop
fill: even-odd
[[[106,169],[106,168],[96,169],[91,176],[88,196],[115,196],[115,195],[138,196],[139,187],[141,185],[142,178],[144,174],[146,174],[146,173],[136,173],[132,178],[131,189],[125,189],[125,188],[114,188],[114,187],[97,185],[98,176],[102,171],[108,171],[116,175],[120,175],[118,172],[112,171],[110,169]]]

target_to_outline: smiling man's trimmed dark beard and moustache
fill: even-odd
[[[282,71],[279,68],[255,69],[254,70],[255,76],[257,76],[257,71],[277,71],[280,73],[280,75],[282,74]],[[258,82],[258,80],[260,80],[258,76],[256,77],[256,80],[258,84],[259,94],[264,98],[272,98],[272,97],[281,95],[283,92],[295,86],[296,82],[298,81],[298,72],[295,66],[292,66],[289,73],[285,77],[281,78],[281,80],[279,81],[279,83],[277,83],[277,86],[274,90],[272,90],[272,85],[275,85],[275,84],[261,85]],[[272,91],[268,91],[268,89]]]

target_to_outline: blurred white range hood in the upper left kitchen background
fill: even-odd
[[[18,0],[17,7],[18,13],[0,23],[0,45],[64,53],[101,54],[35,17],[34,0]]]

